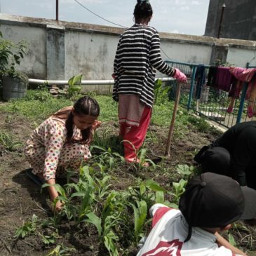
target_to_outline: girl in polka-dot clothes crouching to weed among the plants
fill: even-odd
[[[32,170],[27,175],[36,183],[55,184],[57,175],[65,168],[78,169],[81,161],[91,155],[89,144],[93,130],[100,126],[100,107],[96,100],[84,96],[74,107],[64,107],[43,121],[34,130],[25,147],[25,156]],[[58,197],[54,186],[48,187],[50,198]],[[60,201],[56,210],[62,207]]]

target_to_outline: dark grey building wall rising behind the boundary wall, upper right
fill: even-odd
[[[210,0],[205,36],[217,36],[222,5],[221,38],[256,40],[255,0]]]

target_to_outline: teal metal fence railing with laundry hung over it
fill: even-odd
[[[173,61],[166,62],[172,67],[180,69],[188,77],[189,83],[184,83],[181,86],[180,105],[187,107],[188,110],[195,112],[198,116],[215,121],[215,123],[219,123],[226,128],[230,128],[242,121],[256,120],[256,112],[255,116],[252,116],[250,119],[247,116],[248,105],[252,105],[252,109],[256,110],[256,102],[245,100],[248,88],[247,83],[243,85],[239,97],[231,98],[227,91],[206,86],[210,66],[204,65],[206,68],[206,79],[202,86],[202,84],[198,84],[196,79],[196,69],[200,65]],[[171,85],[169,98],[174,100],[176,86],[175,83]]]

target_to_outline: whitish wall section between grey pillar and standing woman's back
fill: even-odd
[[[84,80],[112,79],[119,36],[95,32],[65,32],[65,79],[83,74]]]

